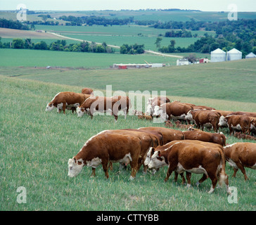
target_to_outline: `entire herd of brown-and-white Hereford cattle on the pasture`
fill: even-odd
[[[65,91],[56,94],[46,105],[46,111],[57,108],[58,113],[63,110],[65,114],[65,110],[72,110],[78,117],[87,113],[91,119],[95,112],[110,112],[117,122],[119,111],[123,111],[126,118],[131,106],[127,96],[94,96],[92,89],[84,88],[82,93]],[[96,167],[102,165],[108,178],[108,169],[112,168],[113,162],[119,162],[120,168],[130,165],[130,179],[134,179],[141,166],[146,173],[147,169],[156,172],[167,165],[165,181],[174,172],[175,181],[180,174],[182,181],[185,183],[187,180],[187,186],[190,186],[191,173],[203,174],[197,185],[209,177],[212,186],[208,193],[215,190],[217,181],[220,185],[225,184],[226,192],[231,193],[226,162],[233,167],[233,177],[241,169],[245,180],[248,176],[244,167],[256,169],[256,143],[226,145],[226,136],[220,131],[227,127],[229,133],[237,138],[255,140],[256,113],[216,110],[205,105],[171,102],[169,98],[157,97],[148,99],[146,113],[134,110],[133,115],[145,120],[158,117],[165,122],[165,127],[101,131],[68,160],[68,176],[77,176],[84,165],[91,167],[91,176],[95,176]],[[215,132],[203,131],[204,128]]]

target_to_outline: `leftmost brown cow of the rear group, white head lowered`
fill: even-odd
[[[58,113],[60,113],[60,110],[63,110],[65,114],[65,109],[72,110],[72,113],[74,113],[75,108],[82,105],[90,96],[89,94],[80,94],[70,91],[59,92],[54,96],[53,100],[46,105],[46,112],[57,108]]]

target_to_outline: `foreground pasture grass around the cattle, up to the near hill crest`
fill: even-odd
[[[130,169],[119,170],[114,164],[110,178],[105,179],[101,166],[91,178],[91,168],[84,167],[75,178],[68,174],[68,159],[76,155],[85,141],[104,129],[163,126],[120,115],[95,115],[78,118],[70,111],[46,113],[46,103],[59,91],[77,91],[81,86],[49,84],[0,76],[0,210],[256,210],[255,171],[246,169],[249,180],[239,171],[232,178],[233,169],[226,165],[229,185],[238,190],[238,203],[230,204],[225,188],[217,188],[211,195],[210,179],[199,188],[200,175],[192,174],[192,186],[186,188],[173,181],[164,182],[167,167],[152,175],[143,175],[142,168],[134,181],[129,181]],[[233,107],[232,102],[226,105]],[[249,110],[245,108],[245,110]],[[229,143],[238,140],[227,136]],[[17,202],[17,188],[27,191],[27,202]]]

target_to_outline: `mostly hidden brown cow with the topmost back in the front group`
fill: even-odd
[[[163,145],[170,141],[184,140],[185,136],[182,131],[176,129],[169,129],[166,127],[141,127],[139,130],[143,131],[159,131],[163,137]]]

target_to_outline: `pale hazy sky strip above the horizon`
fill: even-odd
[[[181,8],[201,11],[231,11],[236,4],[238,11],[256,11],[256,0],[0,0],[0,10],[16,9],[25,4],[30,10],[87,11],[104,9]]]

